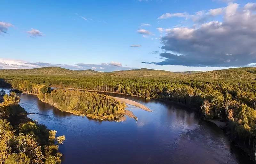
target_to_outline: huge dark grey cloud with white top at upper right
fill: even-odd
[[[160,54],[164,61],[149,63],[199,67],[239,67],[256,63],[256,14],[252,6],[229,3],[221,22],[165,29],[168,33],[161,38],[165,53]]]

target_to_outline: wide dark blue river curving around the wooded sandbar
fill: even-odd
[[[5,89],[8,92],[9,89]],[[195,112],[157,100],[109,93],[146,105],[153,112],[128,106],[138,121],[98,121],[75,116],[43,103],[34,95],[19,94],[29,118],[65,135],[60,146],[63,163],[175,163],[219,164],[249,161],[228,137]]]

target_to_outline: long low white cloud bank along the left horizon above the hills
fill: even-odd
[[[131,67],[121,67],[120,62],[102,63],[102,64],[86,64],[86,63],[74,63],[73,65],[68,64],[52,64],[44,62],[28,62],[15,59],[4,59],[0,58],[0,69],[23,69],[23,68],[41,68],[41,67],[62,67],[71,70],[85,70],[85,69],[96,69],[98,71],[119,71],[137,69]]]

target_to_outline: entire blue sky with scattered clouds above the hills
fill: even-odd
[[[256,0],[1,0],[0,68],[256,66]]]

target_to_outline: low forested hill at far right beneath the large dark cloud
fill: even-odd
[[[254,80],[256,79],[256,67],[229,68],[216,71],[200,72],[196,74],[181,76],[186,79],[230,79],[230,80]]]

